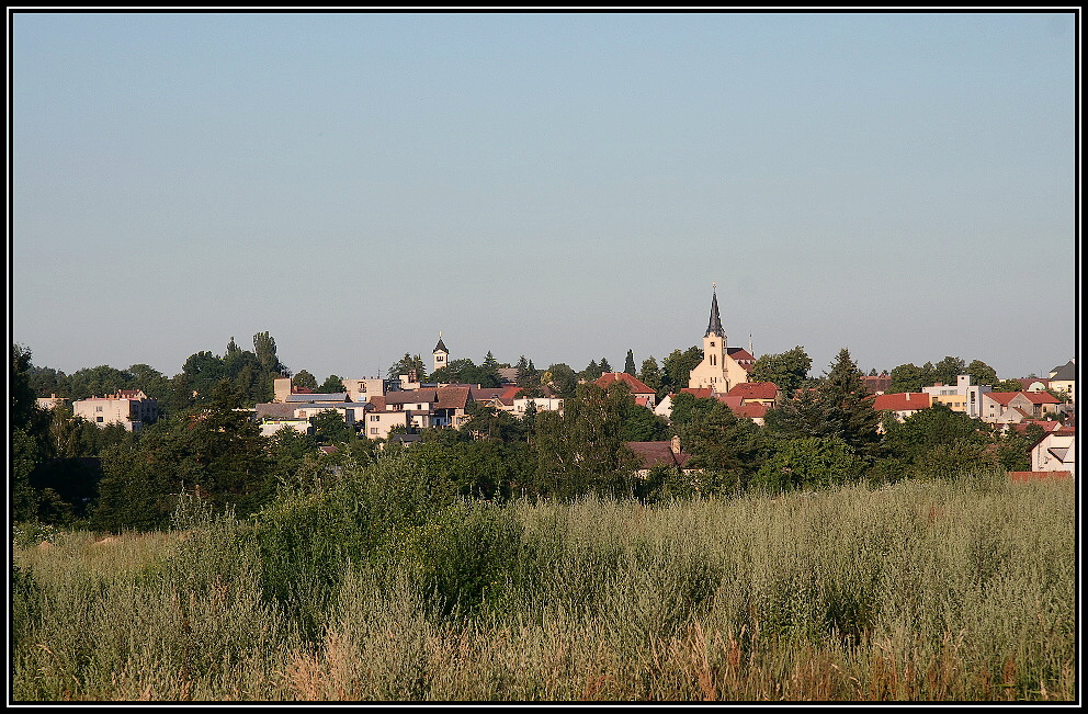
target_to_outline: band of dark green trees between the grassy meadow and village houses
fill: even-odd
[[[803,351],[796,350],[800,354],[777,361],[780,371],[801,374],[807,356],[801,359]],[[218,360],[227,364],[231,354],[237,353],[228,350]],[[213,365],[208,371],[214,374],[219,362],[202,358],[197,363]],[[246,379],[227,373],[218,373],[207,393],[195,390],[188,405],[143,432],[129,433],[37,409],[29,352],[13,350],[12,364],[16,520],[114,532],[158,529],[168,523],[184,490],[247,515],[284,488],[336,478],[348,463],[378,457],[379,444],[360,438],[335,411],[313,419],[313,434],[282,430],[262,437],[259,426],[237,410],[253,398]],[[250,364],[268,370],[279,361]],[[541,378],[553,371],[554,365]],[[201,384],[207,388],[211,375]],[[824,376],[805,376],[798,384],[803,388],[769,410],[760,427],[716,399],[684,393],[675,396],[672,420],[666,422],[636,406],[621,382],[602,389],[576,379],[562,415],[530,410],[517,419],[476,408],[462,429],[423,430],[419,443],[384,447],[415,450],[430,473],[463,496],[567,500],[597,494],[657,502],[751,489],[955,478],[981,466],[1024,471],[1029,449],[1042,435],[1038,427],[1000,433],[941,405],[903,423],[887,418],[880,429],[881,415],[847,350]],[[658,466],[645,477],[637,475],[639,463],[626,442],[673,435],[690,454],[687,467],[694,473]]]

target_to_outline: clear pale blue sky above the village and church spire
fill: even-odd
[[[68,374],[318,381],[1079,343],[1073,12],[9,9],[9,331]]]

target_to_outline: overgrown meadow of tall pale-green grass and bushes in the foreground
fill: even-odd
[[[494,503],[410,455],[13,544],[14,701],[1074,701],[1076,491]]]

